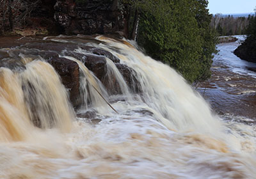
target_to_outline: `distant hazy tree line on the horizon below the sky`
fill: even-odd
[[[216,29],[219,36],[245,35],[246,28],[252,18],[251,15],[248,17],[233,17],[232,15],[224,17],[221,14],[216,14],[212,16],[211,27]]]

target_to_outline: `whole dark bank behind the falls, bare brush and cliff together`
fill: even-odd
[[[112,0],[3,0],[0,32],[28,35],[125,35],[127,10]]]

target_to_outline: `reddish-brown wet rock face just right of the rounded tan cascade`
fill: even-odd
[[[80,105],[79,66],[77,63],[66,58],[52,58],[48,62],[60,75],[63,85],[68,89],[70,102],[74,107]]]

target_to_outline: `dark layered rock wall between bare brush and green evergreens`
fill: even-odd
[[[109,0],[57,1],[54,19],[66,34],[106,34],[124,31],[124,6],[113,8]]]

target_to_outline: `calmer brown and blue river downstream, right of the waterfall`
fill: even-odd
[[[255,63],[239,59],[233,51],[243,36],[232,43],[217,45],[218,54],[212,63],[212,76],[199,85],[198,91],[211,104],[212,109],[224,116],[241,116],[256,120],[256,72]]]

